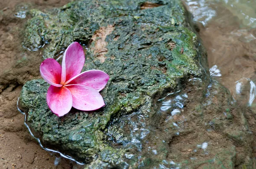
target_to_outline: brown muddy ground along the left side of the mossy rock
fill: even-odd
[[[38,79],[41,51],[22,48],[26,19],[14,16],[17,5],[32,8],[63,6],[71,0],[1,0],[0,1],[0,168],[1,169],[71,169],[77,164],[58,158],[42,149],[23,124],[24,116],[16,103],[23,84]],[[1,14],[2,13],[2,14]],[[37,57],[35,57],[37,56]],[[56,161],[55,161],[56,160]],[[78,166],[79,167],[79,166]],[[77,168],[77,167],[75,167]]]

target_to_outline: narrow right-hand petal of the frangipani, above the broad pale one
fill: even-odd
[[[88,70],[73,77],[72,79],[64,83],[64,85],[84,85],[100,91],[107,85],[108,79],[108,74],[101,70]]]

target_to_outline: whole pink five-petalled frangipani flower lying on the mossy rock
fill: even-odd
[[[67,114],[72,107],[91,111],[105,105],[99,91],[105,87],[109,76],[101,70],[80,73],[84,61],[83,48],[73,42],[64,53],[62,67],[52,58],[45,59],[40,65],[41,76],[50,84],[47,104],[58,116]]]

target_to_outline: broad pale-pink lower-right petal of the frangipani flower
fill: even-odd
[[[105,105],[99,92],[91,87],[84,85],[66,85],[73,99],[72,106],[78,110],[92,111]]]

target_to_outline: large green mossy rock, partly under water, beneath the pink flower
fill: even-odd
[[[179,0],[81,0],[32,10],[24,45],[55,57],[89,45],[84,70],[110,75],[95,112],[48,108],[49,85],[27,82],[20,107],[48,148],[85,168],[252,167],[252,135],[227,89],[210,79],[206,53]]]

